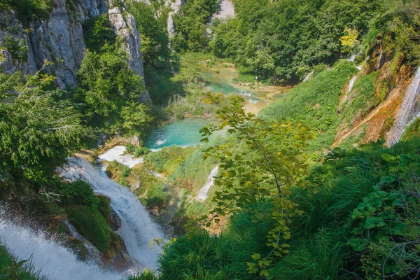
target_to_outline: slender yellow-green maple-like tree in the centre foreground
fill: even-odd
[[[235,144],[229,141],[207,148],[204,154],[204,158],[212,156],[220,160],[219,167],[223,169],[221,176],[215,179],[217,207],[211,219],[217,222],[221,215],[232,214],[261,199],[270,200],[275,209],[271,213],[275,226],[267,232],[267,246],[272,251],[265,256],[254,254],[255,263],[248,263],[250,273],[268,276],[267,267],[273,258],[288,253],[288,225],[293,217],[300,215],[297,204],[290,198],[290,188],[305,187],[307,164],[303,151],[307,140],[312,138],[310,129],[301,124],[268,122],[253,113],[245,113],[241,97],[229,97],[228,105],[223,105],[221,94],[207,94],[207,97],[207,102],[218,106],[216,114],[223,123],[203,127],[200,130],[205,137],[202,141],[209,141],[213,132],[225,127],[237,140]],[[202,221],[207,225],[211,223],[207,216],[203,216]]]

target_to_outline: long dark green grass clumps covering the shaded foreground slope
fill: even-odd
[[[365,260],[349,246],[349,238],[359,226],[349,223],[351,213],[381,186],[384,176],[395,173],[393,163],[384,155],[401,155],[401,162],[416,165],[414,155],[419,150],[419,140],[392,148],[377,143],[351,151],[335,149],[322,165],[314,165],[307,181],[316,193],[292,190],[302,216],[293,218],[290,225],[291,239],[286,241],[290,253],[274,258],[269,267],[273,279],[362,279],[370,262],[362,267]],[[412,178],[412,173],[407,174]],[[160,257],[162,279],[261,279],[248,274],[246,262],[252,261],[253,253],[267,255],[271,251],[266,236],[272,228],[272,207],[262,199],[239,209],[220,236],[202,232],[191,239],[179,237]]]

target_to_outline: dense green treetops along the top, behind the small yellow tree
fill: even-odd
[[[296,83],[318,64],[333,64],[349,31],[365,36],[381,1],[245,1],[235,0],[237,18],[215,21],[211,46],[215,55],[235,61],[242,74],[258,69],[260,80]],[[342,36],[349,36],[340,41]],[[350,49],[350,50],[351,50]]]

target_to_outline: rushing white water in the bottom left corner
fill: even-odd
[[[3,244],[20,260],[28,260],[50,280],[116,280],[127,275],[105,271],[94,263],[82,262],[68,248],[40,232],[3,220],[0,211],[0,237]]]

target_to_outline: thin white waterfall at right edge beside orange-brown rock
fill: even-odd
[[[402,104],[400,106],[400,110],[397,113],[397,116],[395,117],[392,129],[386,134],[388,144],[393,144],[400,141],[402,134],[405,132],[407,124],[409,124],[412,121],[412,118],[415,118],[416,114],[419,113],[419,106],[416,102],[419,94],[420,67],[417,69],[412,83],[407,88],[407,92],[405,92],[404,99],[402,99]]]

